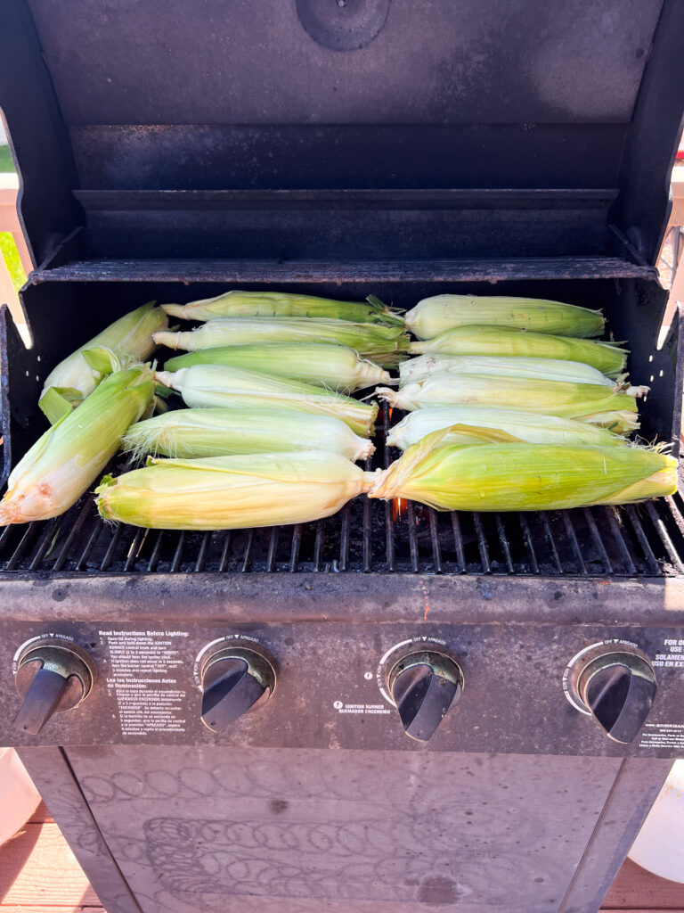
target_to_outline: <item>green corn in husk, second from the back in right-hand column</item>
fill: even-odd
[[[470,326],[447,330],[434,339],[411,342],[409,352],[417,355],[501,355],[584,362],[608,377],[617,377],[625,370],[627,362],[627,352],[612,342],[577,340],[506,327]]]

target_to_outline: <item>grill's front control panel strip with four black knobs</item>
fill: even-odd
[[[676,629],[56,627],[0,627],[4,744],[684,752]]]

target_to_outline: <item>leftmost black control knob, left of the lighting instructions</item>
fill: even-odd
[[[16,690],[24,698],[16,729],[37,735],[53,713],[78,707],[96,677],[92,658],[76,645],[42,640],[27,649],[16,669]]]

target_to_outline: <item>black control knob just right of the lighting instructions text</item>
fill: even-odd
[[[275,689],[275,661],[261,647],[236,641],[206,656],[200,677],[202,723],[221,732],[264,707]]]

